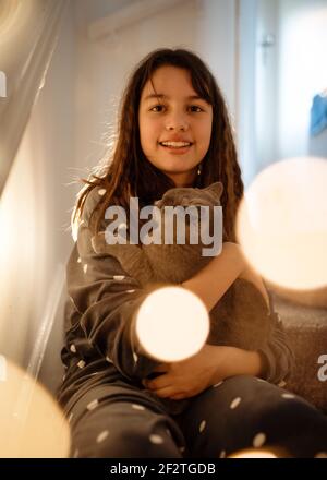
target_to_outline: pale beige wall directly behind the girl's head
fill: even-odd
[[[234,0],[186,0],[98,41],[88,39],[87,25],[101,13],[105,15],[108,4],[97,1],[95,15],[90,3],[75,1],[76,159],[81,173],[87,175],[106,154],[128,74],[155,48],[181,46],[198,52],[216,74],[234,116]]]

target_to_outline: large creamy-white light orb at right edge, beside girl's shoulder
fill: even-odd
[[[268,281],[307,290],[327,285],[327,159],[290,158],[263,170],[245,192],[237,238]]]

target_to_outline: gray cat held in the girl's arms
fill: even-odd
[[[174,188],[168,190],[161,200],[155,205],[164,212],[166,206],[207,206],[209,216],[196,224],[207,221],[207,228],[213,232],[214,206],[220,205],[222,183],[216,182],[205,189]],[[106,251],[118,259],[122,268],[136,278],[142,287],[148,288],[155,284],[181,284],[194,276],[199,269],[213,260],[213,256],[204,256],[201,235],[197,244],[191,244],[189,232],[192,217],[185,217],[185,240],[186,244],[177,243],[177,229],[173,229],[173,243],[164,243],[165,215],[160,215],[161,244],[108,244],[105,233],[100,232],[93,239],[95,251]],[[167,220],[166,220],[167,221]],[[157,228],[160,226],[157,224]],[[221,233],[221,232],[220,232]],[[189,241],[187,241],[189,240]],[[222,298],[209,312],[210,329],[206,340],[210,345],[227,345],[245,350],[256,350],[268,339],[270,322],[267,304],[250,281],[237,279]],[[157,376],[154,372],[148,377]],[[148,391],[152,396],[161,401],[171,415],[181,412],[189,403],[189,399],[173,400],[159,398]]]

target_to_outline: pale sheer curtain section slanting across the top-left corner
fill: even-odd
[[[0,195],[31,110],[46,81],[65,0],[1,0]]]

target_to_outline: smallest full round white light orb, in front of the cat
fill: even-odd
[[[207,339],[206,307],[185,288],[159,288],[140,307],[136,334],[152,357],[160,361],[184,360],[199,351]]]

